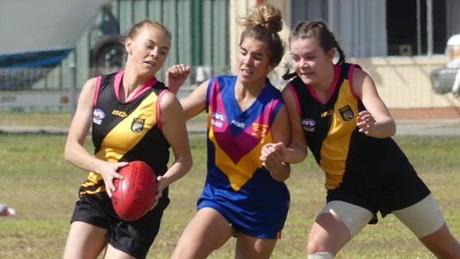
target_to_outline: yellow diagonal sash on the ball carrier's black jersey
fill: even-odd
[[[94,155],[97,159],[108,162],[117,162],[122,156],[130,151],[144,137],[144,134],[156,125],[156,100],[158,96],[151,92],[142,103],[115,126],[103,139],[100,150]],[[143,123],[139,132],[134,132],[132,127]],[[139,127],[136,127],[139,129]],[[110,146],[109,146],[110,145]],[[90,172],[88,181],[98,183],[102,180],[99,173]],[[104,188],[105,190],[105,188]]]

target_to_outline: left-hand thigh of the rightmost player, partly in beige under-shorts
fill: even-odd
[[[311,227],[308,253],[338,253],[372,217],[372,212],[357,205],[339,200],[328,202]]]

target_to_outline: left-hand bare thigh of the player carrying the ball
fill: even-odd
[[[64,258],[97,258],[107,245],[107,229],[74,221],[70,226]]]

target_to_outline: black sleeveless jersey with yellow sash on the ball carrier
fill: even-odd
[[[156,79],[151,80],[153,85],[146,91],[121,103],[115,94],[115,88],[119,87],[115,85],[117,76],[120,73],[101,76],[96,83],[94,156],[110,162],[144,161],[157,176],[163,175],[167,171],[169,144],[161,132],[159,100],[168,88]],[[81,195],[105,191],[103,178],[95,172],[90,172],[81,186]]]

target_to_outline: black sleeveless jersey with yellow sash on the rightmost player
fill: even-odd
[[[297,100],[306,142],[326,173],[326,189],[350,179],[360,188],[379,188],[401,174],[415,174],[406,155],[390,137],[377,139],[359,132],[357,114],[366,110],[352,87],[355,64],[335,65],[329,99],[322,103],[299,77],[287,87]],[[358,67],[360,68],[360,67]],[[399,175],[399,176],[398,176]]]

